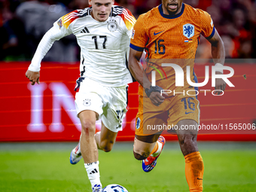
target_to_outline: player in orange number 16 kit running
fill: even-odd
[[[163,130],[148,130],[148,125],[165,123],[178,126],[175,131],[185,159],[185,175],[190,192],[203,191],[203,158],[197,148],[197,129],[184,130],[181,127],[197,127],[200,123],[200,103],[197,94],[192,94],[197,87],[190,86],[186,79],[183,87],[175,87],[174,69],[162,67],[161,64],[175,63],[183,69],[184,75],[190,70],[190,81],[197,83],[194,59],[200,35],[212,44],[215,66],[223,66],[224,44],[210,15],[184,4],[182,0],[162,0],[161,5],[142,14],[137,20],[129,57],[130,72],[140,84],[134,157],[143,160],[142,169],[150,172],[156,166],[165,139],[160,136]],[[145,70],[139,62],[143,50],[147,53],[148,61]],[[187,66],[190,68],[187,69]],[[216,70],[216,74],[222,73]],[[226,83],[216,78],[215,93],[221,93],[225,87]],[[162,96],[160,90],[175,90],[178,94]],[[190,95],[185,94],[187,91]]]

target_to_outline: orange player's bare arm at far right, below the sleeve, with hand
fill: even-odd
[[[215,34],[212,38],[208,39],[212,45],[212,59],[215,62],[215,66],[224,65],[225,62],[225,50],[224,43],[221,39],[221,36],[218,34],[218,31],[215,29]],[[223,74],[223,72],[216,72],[217,75]],[[216,78],[215,80],[215,90],[225,90],[226,82],[222,78]],[[221,94],[221,91],[215,91],[218,95]]]

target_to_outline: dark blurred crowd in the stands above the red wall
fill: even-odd
[[[161,0],[116,0],[136,18]],[[256,0],[184,0],[207,11],[224,41],[226,58],[256,58]],[[32,59],[39,41],[53,23],[75,9],[87,8],[87,0],[0,0],[0,60]],[[211,58],[211,47],[200,38],[197,58]],[[80,49],[75,35],[53,44],[44,61],[77,62]]]

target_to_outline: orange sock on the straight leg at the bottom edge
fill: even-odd
[[[185,158],[185,175],[190,192],[203,191],[203,158],[199,151],[187,154]]]

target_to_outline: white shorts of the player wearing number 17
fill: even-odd
[[[77,115],[84,110],[95,111],[108,130],[117,133],[122,130],[122,121],[127,111],[127,87],[106,87],[85,78],[79,92],[75,94]]]

